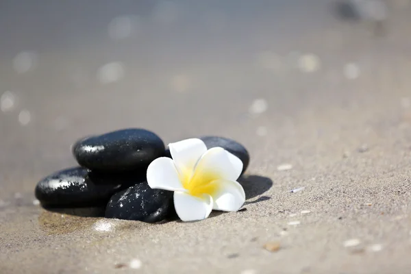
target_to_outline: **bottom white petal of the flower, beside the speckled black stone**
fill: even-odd
[[[175,212],[185,222],[206,219],[211,213],[212,204],[210,195],[196,197],[186,192],[174,192]]]

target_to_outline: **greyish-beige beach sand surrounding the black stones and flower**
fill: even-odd
[[[105,2],[0,10],[0,273],[410,273],[410,1],[382,36],[332,1]],[[77,138],[123,127],[242,142],[246,210],[153,225],[38,205]]]

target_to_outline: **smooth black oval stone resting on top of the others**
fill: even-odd
[[[164,155],[164,142],[145,129],[121,129],[78,140],[73,145],[77,162],[92,171],[138,171]]]

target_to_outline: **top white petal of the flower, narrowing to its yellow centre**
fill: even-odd
[[[179,175],[182,176],[183,182],[190,179],[195,165],[206,153],[207,147],[204,142],[197,138],[182,140],[169,144],[171,158],[173,158]]]

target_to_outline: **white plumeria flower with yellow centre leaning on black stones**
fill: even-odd
[[[174,191],[182,221],[206,219],[212,210],[237,211],[245,202],[240,177],[242,162],[221,147],[208,149],[192,138],[169,145],[171,157],[155,159],[147,169],[151,188]]]

